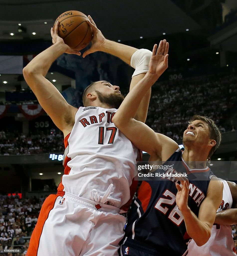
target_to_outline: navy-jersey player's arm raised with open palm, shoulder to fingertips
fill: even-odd
[[[158,49],[157,45],[154,46],[148,72],[128,93],[113,117],[114,124],[136,147],[162,159],[167,159],[167,157],[162,156],[163,145],[169,145],[170,147],[167,152],[168,156],[170,151],[173,153],[177,149],[177,144],[167,136],[155,133],[146,124],[135,120],[134,117],[147,90],[168,67],[169,45],[168,43],[165,43],[165,45],[163,48],[163,41],[161,41]]]

